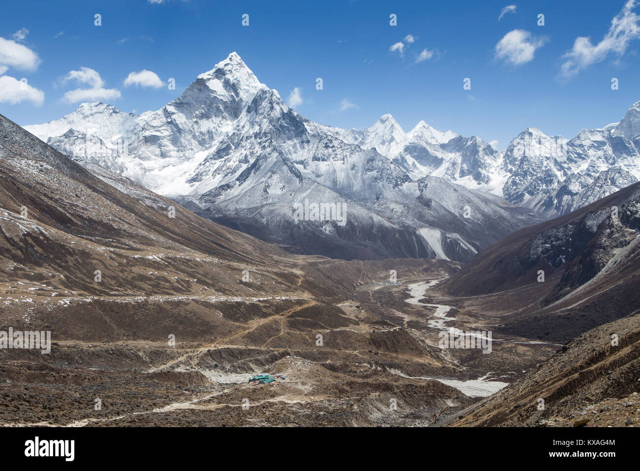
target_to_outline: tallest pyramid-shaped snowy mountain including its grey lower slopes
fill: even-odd
[[[477,138],[424,122],[405,135],[390,115],[362,131],[311,122],[235,53],[157,112],[83,104],[61,120],[26,128],[85,165],[131,178],[290,252],[468,261],[541,220],[535,211],[449,181],[488,178],[474,149],[497,153]],[[414,157],[409,145],[441,155]],[[392,156],[396,150],[413,170]],[[443,167],[452,152],[460,152],[460,162]],[[420,170],[427,167],[441,171]]]

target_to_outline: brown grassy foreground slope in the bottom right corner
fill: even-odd
[[[640,390],[640,314],[596,327],[572,340],[540,367],[474,404],[454,426],[588,425],[606,426],[618,414],[623,424],[640,426],[640,414],[624,409],[625,397]],[[612,346],[613,334],[618,346]],[[632,397],[632,396],[630,396]],[[618,399],[612,406],[606,399]],[[544,409],[538,409],[543,399]],[[611,404],[593,408],[598,402]],[[586,413],[582,413],[586,412]],[[598,419],[598,420],[596,420]]]

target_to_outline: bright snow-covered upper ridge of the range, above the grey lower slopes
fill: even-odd
[[[527,128],[499,152],[477,136],[442,133],[424,121],[405,133],[391,115],[367,129],[311,122],[232,53],[157,112],[134,115],[102,103],[82,104],[63,119],[26,128],[63,153],[93,160],[164,195],[193,199],[224,186],[252,159],[239,149],[246,144],[239,140],[252,135],[253,144],[268,145],[275,128],[281,135],[272,144],[302,172],[305,160],[374,150],[412,179],[438,176],[555,217],[637,181],[639,110],[640,102],[620,123],[584,129],[570,140]],[[118,140],[127,144],[124,153]],[[326,168],[316,165],[311,172],[324,174]]]

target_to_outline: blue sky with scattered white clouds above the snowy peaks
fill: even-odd
[[[25,125],[79,101],[157,110],[236,51],[284,99],[297,87],[294,108],[317,122],[364,128],[391,113],[405,131],[422,119],[502,149],[527,126],[572,137],[620,120],[640,100],[636,15],[640,0],[5,2],[0,113]],[[574,45],[579,37],[589,40]],[[125,86],[141,70],[162,85],[144,86],[147,76]]]

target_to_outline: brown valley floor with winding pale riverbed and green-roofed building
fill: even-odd
[[[446,276],[431,267],[366,283],[335,312],[300,296],[232,318],[230,304],[191,297],[189,306],[204,303],[232,324],[175,347],[69,339],[48,355],[0,350],[0,425],[440,425],[561,347],[501,334],[486,299],[435,295]],[[438,333],[450,327],[492,331],[491,353],[440,349]],[[276,381],[253,385],[255,373]]]

